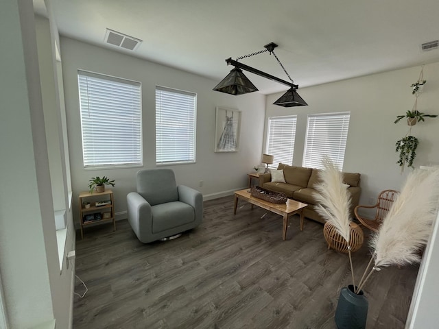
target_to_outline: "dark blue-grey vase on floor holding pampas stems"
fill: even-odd
[[[354,293],[354,287],[349,284],[340,291],[337,310],[335,310],[335,324],[338,329],[364,329],[368,317],[368,300],[361,290]]]

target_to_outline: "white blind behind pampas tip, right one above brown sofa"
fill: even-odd
[[[350,112],[308,116],[303,167],[322,169],[322,158],[328,156],[338,169],[343,169],[350,117]]]

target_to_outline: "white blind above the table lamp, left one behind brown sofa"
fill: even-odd
[[[266,154],[274,156],[269,168],[277,169],[279,163],[291,165],[296,139],[297,116],[268,118]]]

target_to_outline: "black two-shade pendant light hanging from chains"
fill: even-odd
[[[230,95],[243,95],[257,91],[258,88],[256,88],[254,84],[252,84],[252,82],[248,80],[248,77],[246,77],[246,75],[244,75],[244,73],[242,72],[242,70],[244,70],[259,75],[261,77],[265,77],[266,79],[279,82],[280,84],[285,84],[286,86],[290,87],[289,90],[287,90],[287,92],[281,96],[281,98],[274,102],[274,105],[284,106],[287,108],[291,106],[308,105],[307,102],[304,101],[302,97],[300,97],[296,92],[298,85],[294,84],[292,78],[287,73],[287,70],[285,70],[285,67],[283,67],[281,61],[277,58],[276,53],[274,53],[274,48],[276,47],[277,45],[274,42],[270,42],[268,45],[264,46],[265,50],[258,51],[256,53],[250,53],[250,55],[239,57],[237,58],[237,60],[232,60],[231,58],[226,59],[226,63],[228,65],[231,64],[235,66],[235,68],[230,71],[230,73],[228,73],[228,75],[222,80],[222,82],[219,82],[219,84],[217,84],[217,86],[215,86],[213,90]],[[269,51],[270,54],[273,54],[274,58],[276,58],[279,65],[281,65],[283,71],[291,82],[279,79],[278,77],[274,77],[273,75],[238,62],[238,60],[241,60],[242,58],[258,55],[259,53],[265,53],[265,51]]]

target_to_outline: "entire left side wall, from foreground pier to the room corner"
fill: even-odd
[[[55,319],[57,328],[71,328],[73,268],[66,269],[64,260],[60,269],[54,221],[56,204],[67,210],[69,251],[75,231],[59,130],[62,113],[56,94],[62,82],[57,81],[49,22],[37,20],[36,24],[32,1],[1,3],[0,40],[8,47],[0,52],[0,271],[4,293],[0,302],[5,308],[0,327],[7,318],[9,328],[39,324],[54,328]],[[49,87],[44,91],[49,102],[46,99],[44,104],[40,82]],[[50,118],[45,121],[47,115]],[[56,136],[50,134],[53,130],[58,130]],[[53,138],[51,156],[46,137]],[[51,175],[49,169],[56,174]],[[56,179],[54,191],[52,177]],[[53,193],[63,197],[54,202]]]

